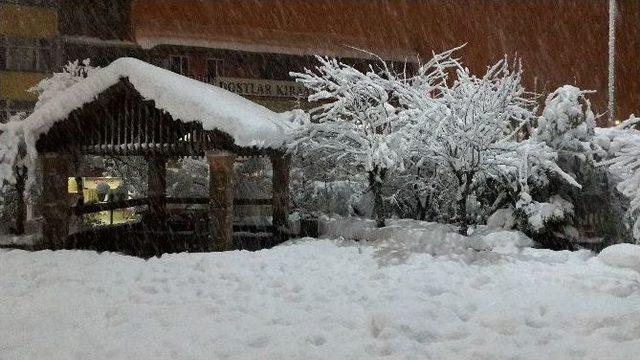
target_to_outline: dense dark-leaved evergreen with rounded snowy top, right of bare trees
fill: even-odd
[[[551,93],[546,101],[538,126],[534,129],[534,141],[545,143],[558,152],[558,166],[571,174],[580,188],[567,186],[557,179],[532,192],[533,201],[519,203],[519,225],[522,231],[540,244],[550,248],[573,248],[578,231],[574,227],[581,222],[581,238],[597,237],[600,241],[622,241],[628,238],[624,229],[624,211],[619,206],[619,193],[612,184],[612,174],[597,164],[610,157],[610,140],[602,133],[608,129],[597,129],[595,116],[587,98],[590,91],[565,85]],[[562,199],[569,206],[555,206],[548,199]],[[556,203],[559,203],[556,201]],[[538,204],[543,212],[564,208],[563,216],[553,216],[539,227],[532,222],[530,207]],[[588,234],[587,234],[588,233]],[[586,240],[586,239],[581,239]]]

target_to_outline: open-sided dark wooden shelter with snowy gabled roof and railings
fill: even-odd
[[[229,109],[224,111],[234,111],[238,104],[242,107],[243,102],[249,102],[249,100],[232,98],[237,95],[227,94],[218,88],[207,88],[211,87],[210,85],[195,84],[195,80],[169,73],[139,60],[126,59],[126,61],[129,62],[128,65],[125,64],[127,66],[123,67],[121,64],[120,67],[102,69],[101,71],[104,72],[102,76],[98,74],[94,78],[86,79],[86,84],[83,82],[77,84],[68,93],[63,93],[58,99],[51,100],[52,104],[45,104],[49,109],[38,109],[30,117],[31,119],[25,120],[33,123],[32,129],[38,129],[34,130],[34,133],[37,134],[35,145],[43,171],[44,246],[54,249],[69,247],[66,241],[73,214],[81,215],[115,208],[145,205],[148,207],[150,215],[148,218],[151,219],[152,226],[162,230],[166,221],[168,202],[208,205],[209,235],[205,250],[230,250],[237,247],[233,240],[234,205],[270,205],[272,207],[270,231],[273,234],[273,242],[283,241],[288,234],[290,163],[285,152],[277,146],[265,145],[265,139],[256,139],[255,142],[244,139],[244,144],[238,141],[233,134],[242,132],[243,126],[250,127],[247,125],[251,124],[250,119],[245,119],[246,122],[239,124],[230,123],[229,119],[226,119],[226,122],[218,122],[211,118],[198,119],[198,111],[185,112],[194,107],[197,108],[201,105],[200,103],[205,103],[209,107],[215,106],[216,100],[212,97],[216,94],[227,96],[230,100],[237,102],[235,107],[229,105]],[[123,68],[127,71],[122,71]],[[142,72],[133,74],[132,69]],[[137,78],[139,75],[143,76],[144,81]],[[131,78],[136,78],[138,86],[131,81]],[[167,94],[167,88],[154,92],[162,96],[149,96],[150,88],[158,90],[153,87],[153,83],[149,83],[156,78],[167,84],[175,83],[172,91],[175,91],[175,96],[178,98]],[[144,96],[140,91],[143,86],[147,93]],[[184,102],[188,102],[189,99],[184,98],[184,94],[180,98],[180,93],[188,95],[189,90],[192,89],[187,87],[191,86],[206,86],[200,89],[205,94],[202,98],[194,100],[194,103],[185,104]],[[90,93],[88,96],[85,94],[87,91]],[[80,94],[85,96],[84,100],[76,99]],[[159,105],[154,97],[160,98],[162,105]],[[89,101],[85,101],[87,99]],[[71,101],[75,101],[75,105],[68,105]],[[172,101],[179,103],[174,104]],[[224,99],[217,103],[220,106],[227,106]],[[246,105],[252,106],[249,103]],[[63,111],[55,111],[60,107]],[[261,108],[256,110],[257,118],[254,120],[265,122],[264,126],[271,126],[271,122],[280,121],[277,117],[279,114],[270,114],[264,112],[268,110]],[[55,118],[49,118],[48,114],[55,114]],[[189,119],[181,118],[181,116],[186,117],[182,114],[189,114]],[[207,111],[203,111],[202,114],[212,116],[212,113]],[[275,117],[265,119],[265,114]],[[247,112],[243,116],[250,115],[251,112]],[[233,131],[225,131],[227,128]],[[247,128],[246,131],[251,129]],[[252,143],[254,145],[250,145]],[[74,171],[79,168],[80,158],[83,155],[144,157],[147,162],[148,196],[91,205],[85,205],[80,197],[75,205],[70,206],[67,179],[78,176]],[[209,164],[209,198],[167,198],[165,193],[167,159],[184,156],[206,157]],[[271,198],[234,199],[233,165],[238,156],[271,159],[273,167]]]

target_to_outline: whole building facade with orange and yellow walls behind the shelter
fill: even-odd
[[[28,109],[35,99],[25,88],[67,61],[132,56],[283,111],[308,106],[289,72],[314,66],[314,54],[364,66],[372,57],[363,49],[411,68],[466,44],[458,55],[471,70],[518,56],[529,90],[596,90],[594,109],[604,113],[608,3],[0,0],[0,104],[4,114]],[[640,109],[640,1],[617,6],[615,116],[625,119]]]

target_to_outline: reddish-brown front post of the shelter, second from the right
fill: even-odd
[[[233,163],[227,152],[206,153],[209,163],[209,236],[211,249],[233,249]]]

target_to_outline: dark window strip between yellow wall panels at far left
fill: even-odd
[[[0,44],[0,69],[15,71],[49,71],[51,41],[3,37]]]

